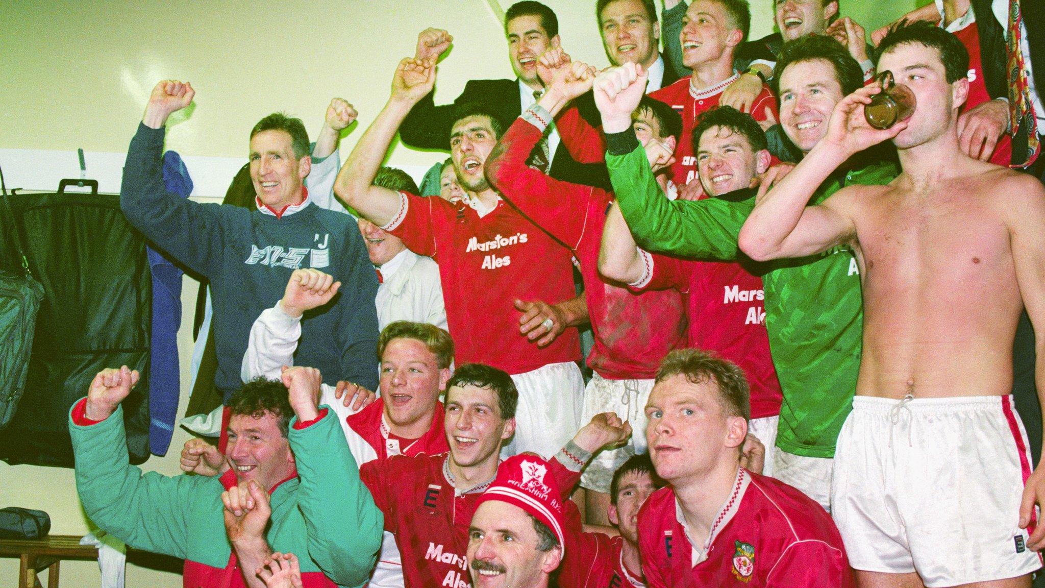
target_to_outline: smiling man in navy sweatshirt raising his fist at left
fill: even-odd
[[[210,280],[215,385],[226,398],[239,388],[254,319],[279,297],[294,270],[322,268],[345,288],[303,321],[298,361],[331,381],[351,380],[373,389],[377,279],[352,219],[321,209],[308,198],[302,184],[311,167],[304,125],[277,113],[251,131],[254,210],[200,204],[164,188],[161,160],[167,117],[188,107],[194,95],[189,84],[170,80],[153,89],[127,150],[120,208],[149,241]]]

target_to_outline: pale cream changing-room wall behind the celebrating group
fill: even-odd
[[[489,0],[496,2],[497,0]],[[842,0],[843,13],[867,30],[914,7],[915,0]],[[504,7],[510,1],[502,0]],[[920,3],[925,3],[922,0]],[[559,16],[563,46],[577,60],[606,64],[589,0],[548,0]],[[657,2],[659,4],[659,2]],[[292,8],[293,6],[293,8]],[[752,6],[752,37],[771,29],[771,0]],[[148,93],[164,77],[198,90],[191,116],[176,117],[167,146],[188,156],[196,199],[224,194],[246,161],[247,132],[261,116],[285,110],[315,135],[330,97],[345,97],[368,125],[388,96],[398,59],[413,54],[416,35],[443,27],[456,38],[440,66],[437,103],[451,100],[469,78],[511,75],[501,24],[487,0],[315,0],[215,2],[51,1],[0,2],[0,165],[8,186],[53,189],[56,178],[77,177],[75,150],[87,152],[88,176],[102,191],[119,187],[121,152]],[[349,149],[362,132],[351,128]],[[391,164],[417,175],[441,154],[396,146]],[[185,309],[195,282],[186,279]],[[187,386],[190,314],[179,334],[182,382]],[[187,403],[183,391],[181,409]],[[178,473],[188,435],[179,430],[167,456],[145,469]],[[0,506],[50,513],[55,534],[88,529],[72,470],[0,462]],[[67,583],[98,583],[90,562],[63,565]],[[0,560],[0,583],[17,573]],[[129,566],[127,585],[179,586],[176,574]]]

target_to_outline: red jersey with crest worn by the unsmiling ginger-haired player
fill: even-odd
[[[743,469],[711,537],[696,549],[672,488],[653,493],[638,512],[638,551],[651,588],[853,586],[828,513],[800,491]]]

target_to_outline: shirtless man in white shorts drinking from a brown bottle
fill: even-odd
[[[960,149],[968,64],[961,42],[930,24],[890,33],[878,68],[914,92],[914,114],[878,131],[863,111],[879,89],[849,95],[740,233],[756,259],[856,252],[863,361],[832,505],[863,586],[1029,586],[1041,567],[1045,474],[1030,471],[1008,391],[1024,306],[1039,357],[1045,341],[1045,188]],[[805,206],[847,157],[887,139],[896,180]],[[1042,390],[1041,362],[1037,380]]]

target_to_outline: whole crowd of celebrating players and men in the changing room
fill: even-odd
[[[518,2],[517,78],[445,106],[452,37],[423,30],[344,165],[346,101],[314,145],[258,122],[251,210],[164,189],[195,91],[159,83],[121,206],[210,281],[224,431],[189,474],[142,475],[138,375],[99,374],[70,414],[92,521],[185,559],[186,586],[1029,586],[1045,473],[1009,392],[1021,314],[1045,329],[1045,187],[1007,166],[1040,149],[1028,66],[983,48],[996,16],[968,0],[877,47],[837,0],[779,0],[758,41],[744,0],[664,8],[598,0],[599,71]],[[878,129],[885,71],[916,106]],[[450,152],[422,189],[381,167],[397,134]]]

